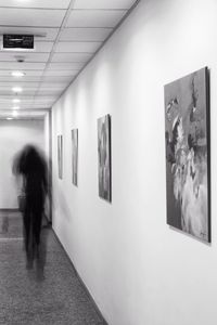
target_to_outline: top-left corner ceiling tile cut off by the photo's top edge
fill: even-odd
[[[0,6],[67,9],[71,0],[0,0]]]

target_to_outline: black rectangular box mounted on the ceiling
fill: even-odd
[[[34,35],[3,35],[3,49],[34,50]]]

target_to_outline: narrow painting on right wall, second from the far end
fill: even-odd
[[[78,185],[78,129],[72,130],[72,181]]]

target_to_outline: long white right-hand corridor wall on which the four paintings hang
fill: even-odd
[[[53,227],[110,325],[216,325],[216,0],[141,0],[53,107]],[[164,84],[204,66],[210,70],[210,245],[166,224]],[[112,116],[112,204],[98,195],[97,119],[105,114]]]

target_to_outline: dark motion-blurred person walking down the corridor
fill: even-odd
[[[28,144],[18,152],[13,161],[13,173],[21,176],[23,181],[20,209],[23,213],[26,266],[31,269],[37,258],[39,266],[43,269],[40,233],[48,195],[48,167],[39,148]]]

